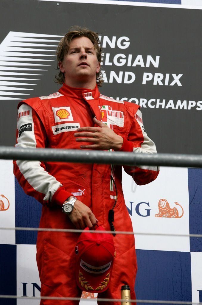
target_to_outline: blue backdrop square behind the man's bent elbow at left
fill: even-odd
[[[15,220],[16,227],[38,228],[41,217],[41,203],[27,196],[15,178]],[[37,232],[16,231],[16,244],[36,244]]]

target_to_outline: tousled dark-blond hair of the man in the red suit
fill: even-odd
[[[59,62],[60,61],[62,62],[64,57],[68,53],[71,40],[73,38],[83,37],[83,36],[90,39],[90,41],[93,43],[94,49],[96,50],[97,59],[98,59],[99,63],[101,62],[102,48],[100,47],[100,40],[99,40],[98,34],[96,32],[93,32],[93,31],[87,29],[86,27],[73,26],[73,27],[70,27],[67,34],[65,34],[65,36],[60,40],[59,45],[57,47],[57,50],[56,50],[57,69],[59,69],[59,66],[58,66]],[[64,81],[65,81],[64,74],[61,71],[59,71],[59,73],[55,76],[55,82],[58,84],[63,84]],[[98,87],[102,86],[103,76],[102,76],[101,71],[96,73],[96,83],[97,83]]]

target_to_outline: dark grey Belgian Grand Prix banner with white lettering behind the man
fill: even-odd
[[[51,35],[62,36],[70,26],[80,25],[95,30],[101,38],[101,69],[106,73],[101,93],[141,105],[144,127],[158,152],[200,153],[201,11],[58,4],[1,2],[0,145],[15,143],[21,99],[49,95],[60,88],[53,82],[60,37]]]

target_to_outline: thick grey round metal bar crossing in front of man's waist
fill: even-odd
[[[172,167],[202,167],[202,155],[147,154],[133,152],[107,152],[99,150],[14,148],[0,146],[0,159],[40,160],[74,163],[99,163],[117,165],[150,165]]]

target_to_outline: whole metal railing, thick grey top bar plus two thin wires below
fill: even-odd
[[[40,160],[55,162],[73,162],[73,163],[97,163],[97,164],[115,164],[127,166],[167,166],[167,167],[202,167],[202,155],[189,154],[146,154],[132,152],[107,152],[98,150],[76,150],[76,149],[51,149],[51,148],[14,148],[0,146],[0,159],[4,160]],[[70,229],[50,229],[50,228],[0,228],[0,230],[22,230],[22,231],[58,231],[58,232],[80,232],[83,230]],[[92,232],[95,232],[92,230]],[[97,232],[97,231],[96,231]],[[100,231],[101,233],[101,231]],[[105,233],[113,233],[105,231]],[[181,237],[202,237],[201,234],[164,234],[164,233],[141,233],[141,232],[122,232],[118,234],[137,234],[137,235],[168,235]],[[0,295],[0,299],[31,299],[31,297]],[[71,297],[35,297],[35,300],[80,300],[80,298]],[[83,301],[93,301],[95,299],[82,299]],[[101,302],[121,302],[121,299],[100,299]],[[197,303],[190,301],[166,301],[166,300],[128,300],[131,303],[156,303],[156,304],[183,304],[195,305]],[[200,304],[200,303],[199,303]]]

